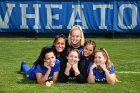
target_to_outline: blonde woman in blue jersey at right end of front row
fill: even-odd
[[[88,67],[88,83],[107,82],[115,84],[118,80],[115,75],[115,69],[105,48],[95,52],[94,63]]]

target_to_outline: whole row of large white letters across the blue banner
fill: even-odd
[[[33,24],[33,29],[41,29],[42,25],[40,23],[40,16],[43,14],[47,15],[46,18],[44,18],[45,22],[46,22],[45,29],[63,29],[64,24],[61,24],[61,20],[63,20],[63,19],[60,19],[61,15],[53,12],[53,9],[57,9],[58,12],[62,11],[62,9],[63,9],[62,4],[44,4],[45,6],[42,6],[42,4],[32,4],[32,5],[33,5],[32,7],[34,10],[34,13],[29,14],[29,13],[27,13],[27,10],[29,8],[28,4],[19,4],[19,8],[20,8],[19,9],[18,5],[15,5],[13,3],[11,3],[11,4],[6,3],[7,10],[4,11],[3,9],[1,9],[4,11],[5,15],[2,15],[4,13],[1,13],[1,11],[0,11],[0,13],[1,13],[0,28],[9,29],[9,23],[11,21],[10,17],[12,16],[12,18],[13,18],[12,11],[13,11],[13,9],[17,9],[18,10],[17,12],[21,12],[21,15],[19,15],[19,17],[18,17],[19,20],[16,20],[16,21],[21,22],[21,24],[19,24],[20,29],[29,29],[27,19],[35,20],[35,22]],[[17,6],[17,7],[15,8],[15,6]],[[82,29],[89,29],[89,27],[87,25],[87,21],[92,20],[92,17],[94,17],[94,16],[89,15],[90,16],[89,18],[91,18],[91,19],[86,20],[86,18],[85,18],[86,15],[84,15],[84,11],[83,11],[84,7],[85,7],[84,5],[74,5],[74,4],[71,6],[72,14],[70,15],[70,20],[68,20],[69,23],[65,24],[67,26],[66,27],[67,29],[71,29],[71,27],[74,25],[75,22],[81,23]],[[44,13],[42,13],[42,11],[41,11],[42,8],[44,8],[44,10],[45,10]],[[92,8],[93,8],[93,10],[92,10],[93,13],[95,12],[95,10],[100,9],[101,22],[99,24],[99,29],[107,29],[106,16],[108,16],[108,15],[106,14],[106,10],[107,9],[113,10],[113,4],[99,4],[99,5],[93,4]],[[118,26],[121,29],[134,29],[138,25],[137,24],[138,23],[137,22],[137,19],[138,19],[137,6],[134,4],[122,4],[122,5],[120,5],[120,7],[118,7],[118,9],[119,9],[118,14],[117,14],[118,16],[117,17],[114,16],[118,19],[118,23],[117,23]],[[132,23],[130,23],[129,25],[124,24],[124,21],[123,21],[125,19],[124,18],[125,9],[132,10],[132,12],[130,12],[130,13],[132,13],[132,17],[131,17],[131,19],[129,19],[129,20],[132,20]],[[42,14],[40,13],[40,11]],[[76,18],[77,15],[79,16],[79,19]],[[14,17],[16,18],[16,16],[14,16]],[[43,18],[41,18],[41,19],[43,19]],[[59,24],[56,25],[53,23],[53,20],[60,21],[60,22],[58,22]],[[92,21],[94,21],[94,20],[92,20]],[[95,21],[98,21],[98,19]],[[44,20],[43,20],[43,22],[44,22]]]

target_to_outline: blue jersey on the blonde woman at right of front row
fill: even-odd
[[[90,63],[89,66],[88,66],[88,69],[87,69],[87,73],[89,74],[89,71],[90,71],[90,67],[92,66],[93,63]],[[109,73],[110,74],[113,74],[115,73],[115,69],[114,69],[114,66],[111,66],[109,68]],[[93,74],[95,76],[95,81],[96,82],[104,82],[106,81],[106,75],[105,75],[105,72],[104,71],[99,71],[97,68],[94,68],[93,69]]]

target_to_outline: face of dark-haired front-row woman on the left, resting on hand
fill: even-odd
[[[55,61],[56,61],[56,57],[53,52],[49,52],[45,54],[44,62],[46,62],[48,66],[54,67]]]

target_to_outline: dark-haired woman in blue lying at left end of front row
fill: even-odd
[[[21,72],[25,72],[26,76],[31,80],[37,80],[37,83],[45,83],[51,86],[58,78],[60,70],[60,61],[56,59],[52,48],[44,47],[38,59],[34,62],[32,68],[25,63],[21,64]]]

